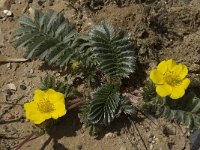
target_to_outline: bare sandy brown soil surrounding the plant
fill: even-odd
[[[189,67],[189,75],[195,79],[191,86],[199,89],[197,83],[200,82],[200,2],[121,2],[123,3],[118,5],[116,1],[108,1],[101,7],[91,10],[88,3],[82,0],[48,0],[42,4],[38,3],[38,0],[32,3],[28,3],[27,0],[16,0],[10,9],[12,17],[0,14],[0,31],[3,37],[0,55],[12,58],[23,56],[23,51],[15,51],[12,47],[14,41],[11,32],[19,27],[19,17],[28,15],[29,7],[43,11],[53,9],[63,12],[77,26],[80,33],[88,32],[93,25],[99,24],[102,20],[111,22],[116,28],[129,31],[137,46],[138,63],[145,66],[146,76],[159,61],[174,59]],[[3,150],[13,149],[32,131],[33,124],[25,121],[23,104],[33,98],[34,90],[39,87],[40,78],[47,73],[62,78],[57,70],[45,69],[41,67],[42,64],[39,60],[0,64],[0,145]],[[10,83],[16,86],[16,90],[9,89]],[[26,88],[22,88],[22,85]],[[132,122],[129,129],[124,126],[126,121],[119,119],[113,123],[112,128],[105,129],[105,134],[96,139],[89,136],[80,124],[76,112],[69,112],[67,116],[61,119],[62,123],[55,126],[51,136],[43,135],[32,139],[21,149],[189,149],[188,129],[164,119],[158,119],[159,123],[155,125],[143,116],[141,120]]]

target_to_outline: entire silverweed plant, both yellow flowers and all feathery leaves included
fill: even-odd
[[[33,17],[23,16],[19,22],[20,28],[12,34],[14,47],[25,48],[28,59],[59,67],[66,77],[61,81],[47,75],[41,80],[33,101],[24,104],[27,119],[47,129],[79,108],[80,121],[93,135],[119,115],[137,116],[138,108],[122,92],[123,79],[136,68],[136,46],[126,31],[102,21],[80,34],[62,13],[53,10],[35,10]],[[144,88],[144,109],[196,129],[200,127],[200,98],[188,88],[187,74],[185,65],[172,59],[161,62],[150,73],[153,83]]]

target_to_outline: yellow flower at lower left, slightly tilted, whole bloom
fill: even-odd
[[[35,124],[41,124],[47,119],[58,119],[67,112],[64,94],[48,89],[47,92],[36,90],[34,100],[24,104],[26,118]]]

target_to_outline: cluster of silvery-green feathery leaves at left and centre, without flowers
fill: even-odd
[[[98,125],[109,125],[121,105],[125,104],[120,92],[121,79],[128,78],[135,70],[135,46],[128,33],[122,30],[116,32],[111,24],[103,21],[88,35],[77,37],[75,27],[63,14],[52,10],[46,13],[36,10],[33,18],[21,17],[20,24],[21,28],[13,33],[19,37],[15,48],[26,47],[26,58],[41,58],[49,65],[60,67],[67,67],[72,60],[80,61],[85,70],[90,71],[88,68],[97,66],[98,69],[94,70],[112,79],[99,87],[87,104],[87,120],[93,129]],[[65,89],[50,77],[42,83],[43,89]],[[126,103],[128,105],[131,106]],[[123,110],[126,108],[129,111],[124,111],[125,114],[131,114],[131,107]]]

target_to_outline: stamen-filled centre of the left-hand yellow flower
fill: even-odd
[[[50,113],[55,110],[53,103],[51,103],[49,100],[41,100],[39,103],[37,103],[38,110],[41,113]]]

